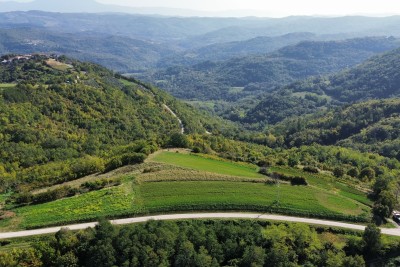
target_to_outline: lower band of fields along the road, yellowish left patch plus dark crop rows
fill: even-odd
[[[279,203],[279,205],[277,205]],[[287,210],[298,214],[360,215],[368,207],[313,187],[232,181],[175,181],[133,184],[17,208],[3,221],[7,230],[95,220],[98,217],[192,210]],[[11,225],[10,225],[11,224]]]

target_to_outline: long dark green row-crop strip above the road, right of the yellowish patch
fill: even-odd
[[[301,191],[300,191],[301,190]],[[301,192],[301,193],[299,193]],[[312,187],[293,187],[290,185],[265,185],[237,182],[159,182],[140,186],[140,196],[146,209],[163,210],[166,207],[202,207],[222,204],[234,209],[246,207],[268,207],[279,202],[279,208],[302,211],[304,213],[342,213],[360,215],[368,208],[335,194],[327,194]],[[323,201],[321,201],[321,199]]]

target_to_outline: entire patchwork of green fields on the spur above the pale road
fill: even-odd
[[[277,167],[274,171],[305,175],[309,185],[276,185],[266,183],[256,166],[170,152],[151,160],[162,163],[132,166],[136,179],[120,186],[15,208],[14,218],[0,221],[0,231],[182,211],[275,212],[347,221],[363,221],[370,212],[364,193],[327,175]]]

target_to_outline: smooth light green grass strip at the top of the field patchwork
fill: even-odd
[[[218,174],[265,178],[257,172],[256,166],[245,166],[233,162],[219,161],[192,154],[161,152],[152,158],[152,161],[173,164],[180,167],[191,168],[198,171],[214,172]]]

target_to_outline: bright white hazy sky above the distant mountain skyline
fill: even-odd
[[[275,16],[400,14],[399,0],[98,0],[98,2],[205,11],[242,9]]]

